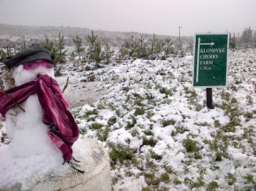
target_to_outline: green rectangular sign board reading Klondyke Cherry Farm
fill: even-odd
[[[193,87],[225,87],[228,75],[229,33],[194,35]]]

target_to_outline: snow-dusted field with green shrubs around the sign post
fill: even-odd
[[[256,189],[256,49],[230,51],[229,64],[229,85],[213,89],[214,109],[205,89],[192,88],[191,55],[63,68],[81,87],[94,75],[106,93],[72,114],[81,134],[109,151],[113,190]],[[0,136],[0,146],[9,142],[4,122]]]

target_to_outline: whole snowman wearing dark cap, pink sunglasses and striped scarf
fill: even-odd
[[[82,176],[85,169],[79,160],[89,158],[92,151],[88,141],[79,138],[79,127],[54,79],[54,59],[46,49],[34,46],[6,58],[4,64],[14,68],[16,86],[0,92],[0,112],[11,139],[0,147],[0,190],[36,190],[45,179]],[[45,187],[41,190],[53,186]]]

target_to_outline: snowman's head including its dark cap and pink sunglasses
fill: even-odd
[[[41,75],[54,77],[54,58],[40,45],[22,50],[4,59],[4,64],[14,68],[13,78],[16,85],[36,80]]]

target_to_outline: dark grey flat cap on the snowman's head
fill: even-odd
[[[36,60],[47,60],[55,65],[54,57],[50,57],[49,51],[41,48],[41,45],[34,45],[33,47],[20,51],[16,55],[5,58],[4,64],[8,67],[17,67],[20,64]]]

